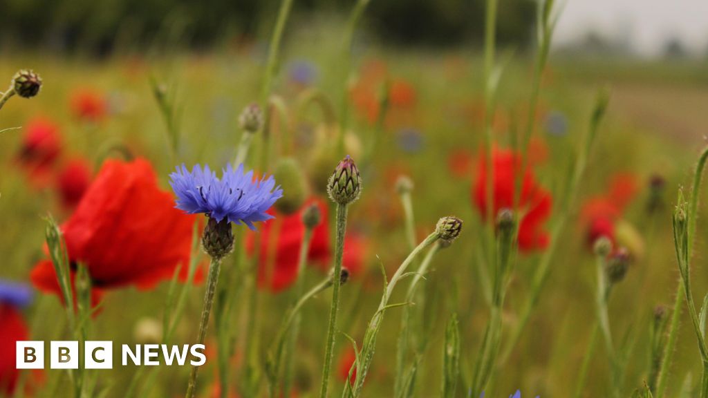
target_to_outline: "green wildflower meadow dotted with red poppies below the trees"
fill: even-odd
[[[330,278],[339,212],[328,198],[328,178],[344,167],[338,163],[346,155],[356,162],[361,192],[343,205],[349,278],[338,292],[329,396],[479,397],[484,391],[489,398],[520,390],[523,397],[630,397],[637,389],[637,397],[702,396],[702,357],[683,290],[675,300],[681,280],[675,225],[686,217],[675,205],[680,188],[695,198],[692,178],[708,132],[706,63],[551,52],[536,75],[535,50],[497,48],[503,69],[495,69],[501,77],[490,94],[494,74],[483,49],[403,50],[365,42],[354,47],[349,66],[342,34],[332,25],[288,31],[270,84],[268,44],[258,40],[207,52],[126,50],[101,59],[3,54],[0,79],[10,83],[23,68],[42,79],[37,96],[15,96],[0,110],[0,130],[21,127],[0,133],[0,300],[3,316],[12,314],[0,321],[3,392],[183,396],[188,365],[18,373],[13,339],[195,343],[210,279],[210,255],[197,235],[210,228],[207,219],[174,210],[173,217],[191,218],[164,224],[162,210],[140,203],[123,208],[120,200],[149,196],[139,184],[130,186],[140,178],[150,186],[149,169],[156,178],[149,189],[169,198],[179,195],[171,174],[181,164],[189,170],[208,164],[220,176],[244,154],[244,136],[254,134],[245,147],[246,170],[275,173],[283,198],[269,210],[275,219],[256,222],[256,232],[234,225],[234,252],[212,260],[221,263],[221,275],[198,397],[319,396],[329,286],[338,283],[330,281],[298,307],[299,333],[291,335],[293,324],[284,320],[304,292]],[[249,133],[239,115],[263,98],[267,122]],[[490,154],[493,181],[486,174]],[[148,169],[108,181],[110,164],[143,161]],[[97,181],[100,190],[92,185]],[[91,207],[118,198],[114,207]],[[699,215],[708,210],[700,202]],[[299,275],[307,228],[301,218],[312,203],[319,203],[321,224]],[[687,246],[695,254],[688,257],[689,291],[698,311],[708,290],[702,239],[708,225],[687,213],[697,220],[687,232],[695,244]],[[83,257],[69,244],[69,261],[48,261],[61,246],[48,215],[64,224],[64,234],[67,222],[86,224],[77,232],[91,235]],[[382,270],[390,282],[447,216],[464,222],[459,237],[435,235],[448,241],[413,258],[385,311],[377,311],[386,289]],[[114,224],[101,224],[107,219]],[[177,237],[184,236],[179,225],[185,222],[186,246]],[[510,239],[506,246],[504,239]],[[161,260],[164,245],[181,245],[188,261],[173,261],[144,280],[116,271],[147,273],[151,263],[141,258]],[[130,260],[135,263],[121,262]],[[42,263],[49,281],[37,271]],[[193,271],[187,283],[173,278],[179,264],[178,273]],[[429,268],[417,273],[421,264]],[[79,296],[76,317],[62,305],[66,290],[52,286],[57,267],[76,278],[86,270],[86,281],[102,292],[81,302],[86,287],[69,289]],[[99,267],[108,276],[98,278]],[[9,282],[33,291],[19,309],[6,309],[16,307]],[[89,303],[98,310],[92,313]],[[26,333],[13,334],[17,322]],[[367,345],[372,324],[375,351]],[[283,325],[286,349],[273,373]],[[361,385],[360,375],[349,373],[358,358],[350,339],[375,354],[370,368],[358,362],[368,370]],[[345,387],[348,375],[360,391]]]

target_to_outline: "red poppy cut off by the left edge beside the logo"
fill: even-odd
[[[29,340],[27,325],[15,307],[0,304],[0,392],[15,391],[19,370],[15,367],[16,341]]]

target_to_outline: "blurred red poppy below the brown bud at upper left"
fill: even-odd
[[[27,171],[30,182],[45,186],[61,152],[59,127],[47,118],[34,118],[25,127],[22,146],[17,156],[20,166]]]

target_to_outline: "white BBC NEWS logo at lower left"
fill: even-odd
[[[50,369],[78,369],[79,341],[50,341]],[[84,341],[84,369],[113,369],[113,341]],[[122,366],[179,365],[188,362],[201,366],[207,362],[204,344],[168,346],[167,344],[136,344],[120,346]],[[15,367],[17,369],[44,369],[45,342],[17,341]]]

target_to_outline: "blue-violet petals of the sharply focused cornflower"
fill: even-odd
[[[255,230],[253,222],[270,220],[266,211],[282,198],[282,189],[275,187],[273,176],[253,181],[253,170],[244,174],[244,165],[234,170],[229,164],[217,178],[208,165],[195,165],[188,171],[183,164],[170,174],[170,185],[177,195],[176,207],[188,214],[204,213],[217,222],[227,219],[246,224]]]

